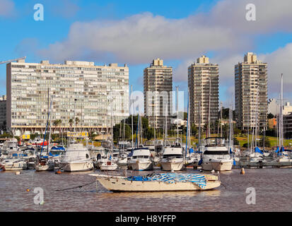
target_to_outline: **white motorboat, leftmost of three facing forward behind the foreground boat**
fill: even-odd
[[[133,150],[133,155],[129,160],[129,169],[133,170],[152,170],[153,159],[148,148],[136,148]]]

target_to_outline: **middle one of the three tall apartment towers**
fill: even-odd
[[[210,64],[206,56],[199,57],[197,63],[188,68],[190,121],[201,126],[214,123],[218,119],[218,64]]]

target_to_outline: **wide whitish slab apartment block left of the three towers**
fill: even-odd
[[[52,122],[61,119],[57,131],[108,132],[110,120],[129,116],[129,68],[109,64],[95,66],[87,61],[49,61],[6,65],[7,127],[11,131],[45,131],[52,98]],[[48,100],[49,97],[49,100]],[[113,109],[113,117],[112,117]]]

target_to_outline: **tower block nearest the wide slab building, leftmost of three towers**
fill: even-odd
[[[152,128],[163,128],[166,112],[168,125],[170,124],[172,91],[173,68],[163,66],[162,59],[154,59],[152,64],[144,69],[144,113]]]

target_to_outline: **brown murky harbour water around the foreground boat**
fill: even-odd
[[[91,173],[0,172],[0,211],[292,211],[292,169],[245,169],[245,175],[233,169],[211,191],[114,194],[95,183],[55,191],[95,182]],[[44,190],[42,205],[34,203],[36,187]],[[255,205],[245,201],[248,187],[255,188]]]

